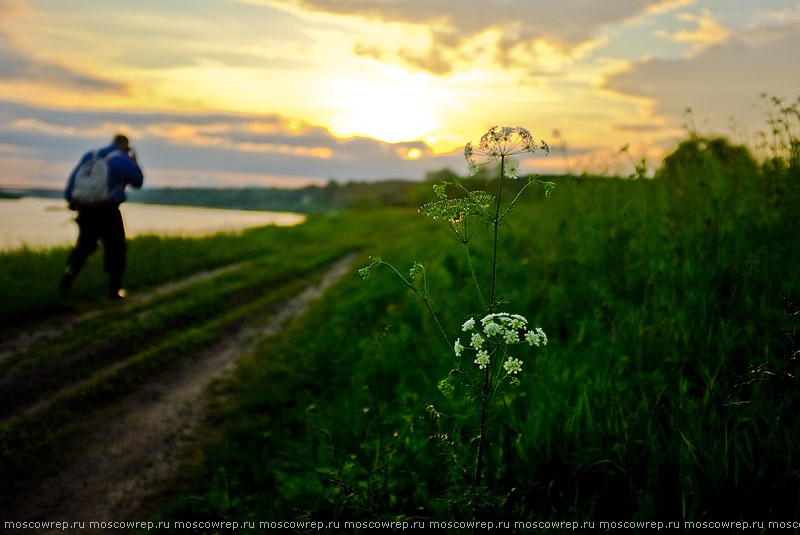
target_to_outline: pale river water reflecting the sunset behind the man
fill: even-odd
[[[124,203],[127,236],[209,236],[264,225],[292,226],[305,216],[290,212],[255,212],[189,206]],[[59,199],[0,199],[0,250],[69,246],[78,236],[75,213]]]

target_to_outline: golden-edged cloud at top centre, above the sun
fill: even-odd
[[[505,66],[535,60],[537,41],[569,54],[600,37],[610,24],[675,9],[686,0],[241,0],[300,13],[327,14],[368,24],[403,25],[427,32],[424,42],[386,45],[382,37],[355,47],[368,57],[396,58],[416,69],[447,74],[476,53],[490,52]],[[413,46],[412,46],[413,45]],[[487,46],[488,49],[487,50]],[[526,65],[528,66],[528,65]]]

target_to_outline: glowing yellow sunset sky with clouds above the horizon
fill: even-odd
[[[523,171],[628,173],[800,96],[797,0],[0,0],[0,187],[62,187],[127,133],[149,187],[465,172],[523,126]],[[566,157],[565,157],[566,156]]]

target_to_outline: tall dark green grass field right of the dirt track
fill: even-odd
[[[500,293],[550,343],[493,407],[481,492],[476,414],[436,387],[452,348],[391,273],[354,273],[242,366],[159,518],[800,520],[800,177],[691,141],[655,180],[563,179],[501,229]],[[423,262],[457,336],[480,314],[459,245],[386,217],[373,253]]]

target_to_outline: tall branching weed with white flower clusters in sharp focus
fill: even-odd
[[[437,201],[425,204],[420,211],[430,216],[434,220],[444,223],[446,229],[464,246],[466,263],[472,277],[472,283],[476,292],[476,297],[481,303],[479,320],[474,317],[467,319],[461,330],[468,337],[468,347],[461,344],[461,338],[456,338],[453,344],[454,368],[448,376],[438,383],[439,390],[446,396],[451,396],[456,390],[454,383],[464,389],[467,401],[475,402],[475,413],[479,421],[478,434],[474,438],[477,444],[475,452],[474,478],[472,486],[468,488],[464,485],[461,478],[454,479],[455,487],[465,487],[463,491],[456,490],[457,494],[468,496],[468,508],[472,509],[473,517],[478,517],[481,510],[486,506],[482,502],[487,500],[489,488],[484,486],[484,456],[487,444],[490,442],[488,437],[489,424],[493,409],[499,407],[498,400],[506,402],[504,387],[518,386],[520,381],[517,377],[522,371],[522,361],[509,354],[509,347],[527,342],[529,345],[547,345],[547,336],[540,328],[531,328],[528,320],[520,314],[510,314],[507,312],[496,312],[501,305],[498,298],[497,270],[498,253],[500,246],[500,227],[506,223],[506,219],[517,200],[528,186],[534,183],[541,183],[545,187],[547,196],[550,195],[553,187],[552,182],[542,182],[535,176],[530,176],[526,184],[517,191],[516,195],[503,204],[502,193],[504,179],[514,180],[519,175],[519,163],[513,159],[514,156],[524,153],[532,153],[537,150],[549,150],[544,141],[537,145],[533,141],[530,132],[524,128],[494,127],[482,138],[477,148],[473,148],[468,143],[464,156],[469,163],[471,174],[477,173],[479,169],[476,157],[485,157],[483,165],[497,162],[498,179],[497,195],[493,196],[486,191],[470,190],[464,186],[462,180],[455,177],[452,180],[444,181],[442,184],[434,186],[434,191],[438,197]],[[447,189],[455,189],[457,197],[449,198]],[[490,227],[492,232],[491,239],[491,276],[488,283],[488,291],[481,289],[481,283],[475,274],[472,264],[469,244],[475,235],[476,230],[481,224]],[[424,266],[418,261],[411,267],[409,277],[403,276],[397,269],[380,258],[374,258],[372,263],[359,270],[361,276],[366,280],[370,276],[370,271],[377,267],[388,266],[400,278],[406,287],[412,290],[420,301],[425,305],[437,328],[442,334],[446,345],[450,345],[450,338],[439,322],[436,313],[431,306],[431,299],[428,292],[428,281]],[[422,279],[421,289],[417,289],[413,280],[417,277]],[[486,295],[487,297],[484,297]],[[461,360],[462,353],[469,355],[467,360],[471,361],[472,356],[475,360],[467,362],[466,365]],[[477,369],[475,369],[475,366]],[[498,394],[502,394],[498,398]],[[429,410],[435,412],[434,405],[429,405]],[[446,436],[446,435],[443,435]],[[448,448],[450,446],[448,445]],[[454,461],[460,466],[458,461]]]

